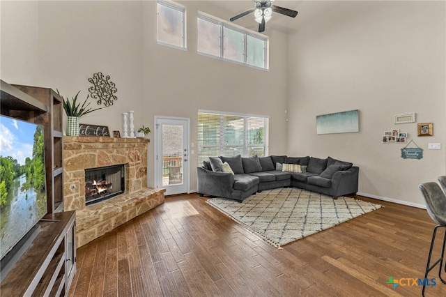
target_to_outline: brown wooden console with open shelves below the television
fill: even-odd
[[[1,282],[2,296],[66,296],[76,271],[75,211],[51,213],[40,233]],[[70,240],[68,239],[70,238]],[[69,281],[68,281],[69,280]],[[51,292],[60,292],[53,295]]]

